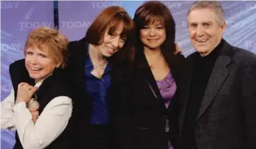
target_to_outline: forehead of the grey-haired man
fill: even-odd
[[[188,23],[216,22],[216,14],[213,9],[195,9],[187,16]]]

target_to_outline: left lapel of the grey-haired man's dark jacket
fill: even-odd
[[[182,125],[184,122],[184,115],[185,115],[185,111],[187,109],[187,100],[188,100],[188,96],[189,96],[189,92],[190,92],[190,82],[192,79],[192,73],[194,71],[194,62],[197,59],[197,52],[194,52],[192,55],[190,55],[189,57],[186,58],[186,65],[185,65],[185,70],[184,71],[184,92],[181,96],[181,110],[179,113],[179,124],[180,124],[180,129],[182,129]]]

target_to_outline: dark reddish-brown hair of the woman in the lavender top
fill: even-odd
[[[140,30],[154,21],[162,21],[165,27],[166,40],[161,46],[162,54],[166,60],[174,62],[176,60],[175,47],[175,22],[171,15],[171,11],[162,2],[145,2],[137,8],[133,21],[135,25],[135,48],[136,52],[142,53],[143,44],[140,40]]]

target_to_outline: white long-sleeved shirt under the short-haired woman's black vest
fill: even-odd
[[[43,81],[35,86],[39,87]],[[14,103],[14,90],[2,101],[1,128],[17,130],[24,149],[40,149],[51,144],[63,132],[72,115],[72,100],[55,97],[40,113],[37,122],[25,102]]]

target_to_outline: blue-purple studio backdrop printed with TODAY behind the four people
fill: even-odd
[[[59,30],[69,40],[79,40],[85,36],[91,21],[104,8],[120,5],[133,17],[136,8],[143,1],[87,1],[58,2]],[[176,39],[184,55],[194,52],[191,46],[186,14],[192,1],[164,1],[176,21]],[[222,1],[226,12],[227,28],[224,38],[233,46],[256,53],[256,2]],[[39,26],[54,27],[53,2],[1,2],[1,100],[11,92],[8,66],[15,60],[24,58],[24,42],[31,29]],[[2,113],[5,114],[5,113]],[[1,148],[11,149],[14,133],[1,131]]]

